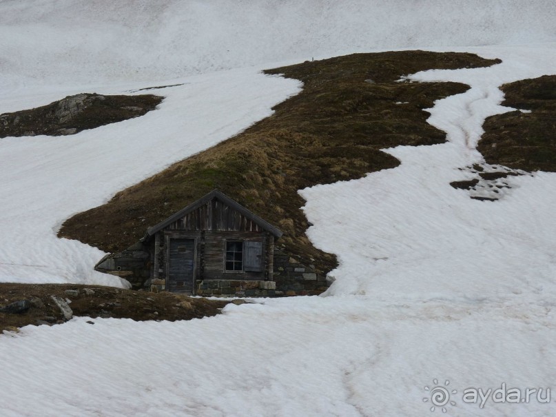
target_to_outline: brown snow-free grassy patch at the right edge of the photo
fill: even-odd
[[[556,172],[556,75],[502,85],[502,105],[523,110],[486,119],[477,149],[488,163]]]

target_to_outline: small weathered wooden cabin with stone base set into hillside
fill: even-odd
[[[105,256],[95,269],[151,289],[245,294],[276,289],[274,240],[282,232],[214,190],[150,227],[136,245]],[[204,292],[210,289],[210,292]]]

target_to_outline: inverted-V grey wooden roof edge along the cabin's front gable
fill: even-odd
[[[218,190],[212,190],[212,192],[209,192],[209,194],[205,195],[204,197],[201,197],[200,199],[198,199],[194,203],[189,204],[187,207],[183,208],[179,212],[176,212],[176,213],[172,214],[172,216],[169,216],[166,220],[161,221],[161,223],[158,223],[157,225],[155,225],[153,227],[150,227],[147,230],[147,233],[145,234],[145,237],[143,237],[143,239],[141,239],[141,240],[142,241],[149,240],[149,238],[151,236],[154,236],[154,234],[156,234],[156,232],[159,232],[159,231],[163,230],[164,227],[174,223],[174,221],[177,221],[179,218],[182,218],[183,216],[185,216],[189,212],[192,212],[192,211],[198,209],[202,205],[205,205],[206,203],[208,203],[212,199],[218,199],[218,200],[222,201],[223,203],[225,203],[229,207],[233,208],[237,212],[240,212],[245,217],[249,218],[249,220],[251,220],[254,223],[256,223],[257,225],[259,225],[262,228],[262,230],[266,230],[267,232],[270,232],[271,234],[274,234],[274,236],[276,236],[277,238],[282,236],[282,232],[280,232],[280,230],[278,230],[276,227],[274,227],[273,225],[271,225],[267,221],[262,220],[262,218],[260,218],[256,214],[251,213],[249,210],[247,210],[245,207],[243,207],[243,205],[240,205],[236,201],[230,199],[229,196],[227,196],[226,194],[224,194],[224,193],[222,193]]]

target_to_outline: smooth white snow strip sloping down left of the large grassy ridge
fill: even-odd
[[[0,195],[9,196],[0,230],[10,242],[0,246],[0,281],[128,285],[94,271],[100,250],[56,238],[63,221],[234,136],[298,90],[294,80],[230,70],[148,90],[165,100],[140,118],[72,136],[0,139]]]

